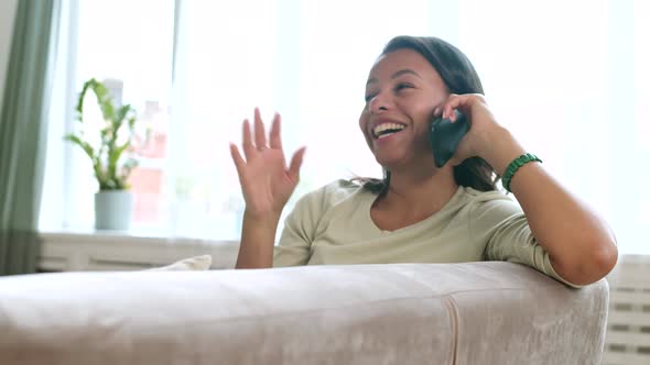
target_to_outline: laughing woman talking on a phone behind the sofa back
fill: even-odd
[[[437,168],[429,122],[455,121],[454,110],[469,117],[470,129]],[[305,148],[286,168],[280,117],[268,142],[258,110],[254,142],[243,122],[246,161],[230,146],[246,200],[238,268],[498,259],[578,287],[615,266],[616,241],[604,220],[497,123],[474,67],[451,44],[390,41],[370,69],[359,126],[384,178],[338,180],[305,195],[274,247]],[[498,191],[500,176],[520,204]]]

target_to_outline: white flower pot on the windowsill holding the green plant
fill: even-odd
[[[133,217],[133,195],[126,190],[95,193],[95,229],[126,231]]]

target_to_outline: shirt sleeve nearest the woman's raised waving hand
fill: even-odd
[[[297,200],[284,220],[280,242],[273,250],[273,267],[306,265],[319,218],[324,189]]]

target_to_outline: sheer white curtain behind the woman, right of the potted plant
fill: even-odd
[[[364,85],[382,45],[414,34],[463,49],[499,122],[611,222],[624,252],[650,252],[646,2],[181,4],[171,172],[192,181],[180,232],[239,234],[227,145],[254,106],[267,120],[283,114],[288,154],[307,145],[294,198],[351,174],[379,176],[357,128]]]

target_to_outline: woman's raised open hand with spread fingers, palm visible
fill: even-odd
[[[239,148],[230,143],[230,154],[237,167],[239,184],[249,214],[279,215],[300,180],[300,167],[305,147],[299,148],[286,167],[280,137],[280,114],[273,118],[269,141],[259,109],[254,110],[254,139],[248,120],[243,121],[242,145],[246,161]]]

